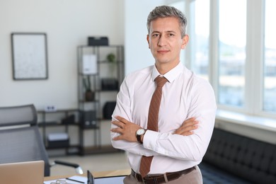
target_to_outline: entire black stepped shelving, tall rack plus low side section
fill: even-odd
[[[108,61],[108,54],[113,54],[113,62]],[[115,108],[117,92],[125,76],[124,47],[121,45],[81,45],[77,47],[77,55],[79,107],[38,111],[38,126],[41,129],[46,149],[66,149],[67,154],[81,155],[119,151],[110,144],[102,144],[102,138],[105,138],[105,142],[109,140],[111,114]],[[88,56],[86,60],[84,55]],[[86,65],[94,67],[93,72],[84,72],[84,60]],[[86,96],[84,83],[91,89],[92,95]],[[74,115],[74,120],[68,119],[71,115]],[[54,146],[49,145],[49,134],[57,132],[56,128],[51,127],[59,127],[59,132],[68,134],[69,143],[59,142],[60,144],[54,144]],[[71,127],[76,127],[78,135],[76,132],[69,131]],[[72,136],[75,136],[74,144],[71,143]]]

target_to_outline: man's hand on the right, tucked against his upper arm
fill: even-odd
[[[192,130],[197,129],[198,121],[195,120],[195,117],[191,117],[188,120],[185,120],[182,125],[174,132],[174,134],[181,134],[188,136],[193,134]]]

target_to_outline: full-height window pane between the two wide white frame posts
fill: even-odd
[[[243,107],[245,62],[246,0],[219,0],[219,104]]]

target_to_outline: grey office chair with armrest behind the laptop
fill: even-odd
[[[33,104],[0,108],[0,163],[38,160],[45,161],[45,176],[50,176],[50,167],[56,164],[71,166],[76,168],[76,173],[83,173],[76,163],[49,163]]]

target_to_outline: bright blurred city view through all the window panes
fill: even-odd
[[[217,103],[236,108],[245,108],[246,104],[246,25],[250,20],[247,15],[247,0],[219,0],[219,40],[217,71]],[[209,78],[209,0],[196,0],[189,4],[190,21],[190,67],[195,74],[208,80]],[[238,6],[236,6],[238,4]],[[185,10],[185,3],[180,1],[172,4]],[[260,110],[276,113],[276,17],[275,0],[265,1],[263,88],[256,89],[263,104]],[[235,10],[235,11],[233,11]],[[262,26],[262,25],[260,25]],[[257,28],[259,29],[259,28]],[[249,28],[251,31],[251,28]],[[260,35],[263,37],[263,35]],[[214,42],[216,40],[210,40]],[[258,47],[256,45],[255,47]],[[262,48],[260,48],[262,50]],[[184,60],[184,59],[181,59]],[[214,65],[213,65],[214,66]],[[262,68],[261,68],[262,69]],[[262,86],[261,86],[262,87]],[[255,102],[256,105],[259,103]]]

